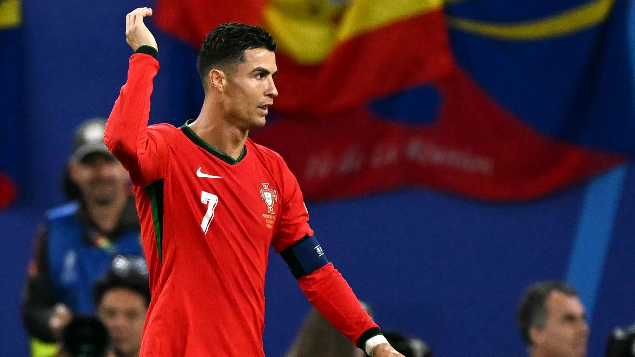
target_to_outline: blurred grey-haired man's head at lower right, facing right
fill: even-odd
[[[531,357],[584,357],[589,325],[577,292],[558,282],[529,288],[518,308],[518,327]]]

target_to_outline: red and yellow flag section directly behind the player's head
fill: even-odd
[[[276,84],[282,95],[276,109],[328,114],[450,73],[454,65],[441,5],[441,0],[159,0],[156,20],[196,46],[222,22],[262,25],[279,49]]]

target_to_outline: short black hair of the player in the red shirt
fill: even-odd
[[[205,36],[196,62],[203,84],[211,69],[220,67],[227,71],[229,65],[244,62],[244,51],[253,48],[266,48],[273,52],[276,41],[262,27],[238,22],[220,24],[211,30]]]

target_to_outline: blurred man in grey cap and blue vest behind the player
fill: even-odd
[[[74,314],[95,313],[93,285],[116,255],[143,254],[130,179],[107,151],[104,128],[104,119],[77,128],[64,180],[72,201],[47,212],[39,230],[22,306],[34,355]]]

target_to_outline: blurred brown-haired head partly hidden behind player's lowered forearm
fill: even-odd
[[[373,317],[369,307],[361,303]],[[331,326],[316,309],[311,309],[295,337],[286,357],[364,357],[366,353],[351,344],[342,333]]]

